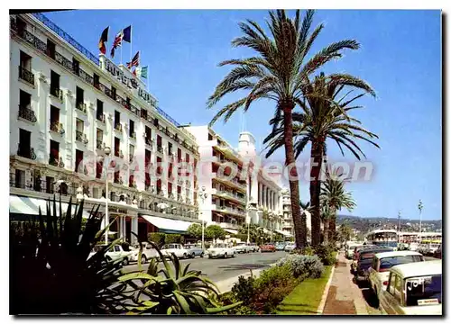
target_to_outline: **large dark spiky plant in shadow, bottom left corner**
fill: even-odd
[[[60,202],[60,213],[61,210]],[[20,228],[10,227],[10,313],[120,313],[129,296],[118,283],[121,260],[106,261],[105,253],[118,240],[89,257],[103,238],[102,218],[97,209],[82,226],[83,201],[72,215],[70,200],[66,216],[57,215],[53,198],[47,202],[47,215],[41,210]],[[19,229],[19,230],[17,230]],[[112,288],[113,287],[113,288]]]

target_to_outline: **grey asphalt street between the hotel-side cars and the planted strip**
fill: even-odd
[[[209,259],[207,257],[196,257],[194,259],[180,260],[182,265],[191,264],[190,269],[200,270],[202,274],[214,282],[226,280],[228,278],[235,277],[237,275],[243,275],[249,272],[249,269],[259,269],[265,266],[269,266],[281,257],[286,256],[287,253],[283,251],[277,252],[255,252],[248,254],[237,254],[233,258],[218,258]],[[147,265],[144,265],[146,268]],[[162,264],[160,263],[160,267]],[[124,266],[125,272],[132,272],[138,270],[138,265],[133,263],[130,266]]]

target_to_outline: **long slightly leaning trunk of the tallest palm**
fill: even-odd
[[[294,158],[293,149],[293,119],[291,111],[294,103],[281,104],[283,111],[283,140],[285,144],[285,163],[289,166],[289,182],[290,182],[290,198],[291,198],[291,215],[293,217],[294,237],[296,240],[296,248],[305,247],[307,241],[307,222],[305,215],[300,213],[299,205],[299,177],[296,168],[296,160]]]

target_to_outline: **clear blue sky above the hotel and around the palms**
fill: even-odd
[[[161,108],[179,123],[206,124],[215,110],[206,101],[227,67],[217,63],[252,54],[235,49],[230,41],[240,35],[237,23],[252,19],[264,23],[266,11],[72,11],[46,14],[94,54],[100,33],[110,26],[107,49],[115,33],[133,25],[133,54],[141,50],[141,64],[149,66],[150,92]],[[423,219],[441,219],[441,34],[439,11],[319,10],[314,25],[325,23],[312,49],[344,39],[358,40],[362,47],[345,52],[344,58],[328,63],[326,73],[346,72],[368,81],[377,99],[363,98],[365,108],[353,114],[364,127],[379,135],[381,149],[361,143],[373,163],[373,179],[349,184],[357,202],[350,214],[367,217],[418,218],[419,199]],[[123,60],[130,56],[124,44]],[[116,63],[119,63],[116,55]],[[222,103],[228,103],[235,96]],[[217,108],[221,106],[218,105]],[[254,104],[244,115],[245,128],[260,141],[269,132],[273,103]],[[242,116],[214,129],[237,145]],[[341,158],[329,143],[330,158]],[[281,159],[283,151],[273,159]],[[301,160],[307,161],[309,148]],[[346,154],[347,160],[354,160]],[[307,201],[308,183],[300,184],[301,199]],[[348,213],[342,211],[341,213]]]

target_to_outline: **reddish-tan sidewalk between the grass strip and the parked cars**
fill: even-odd
[[[364,297],[353,283],[350,262],[345,259],[342,253],[338,256],[323,314],[368,315]]]

